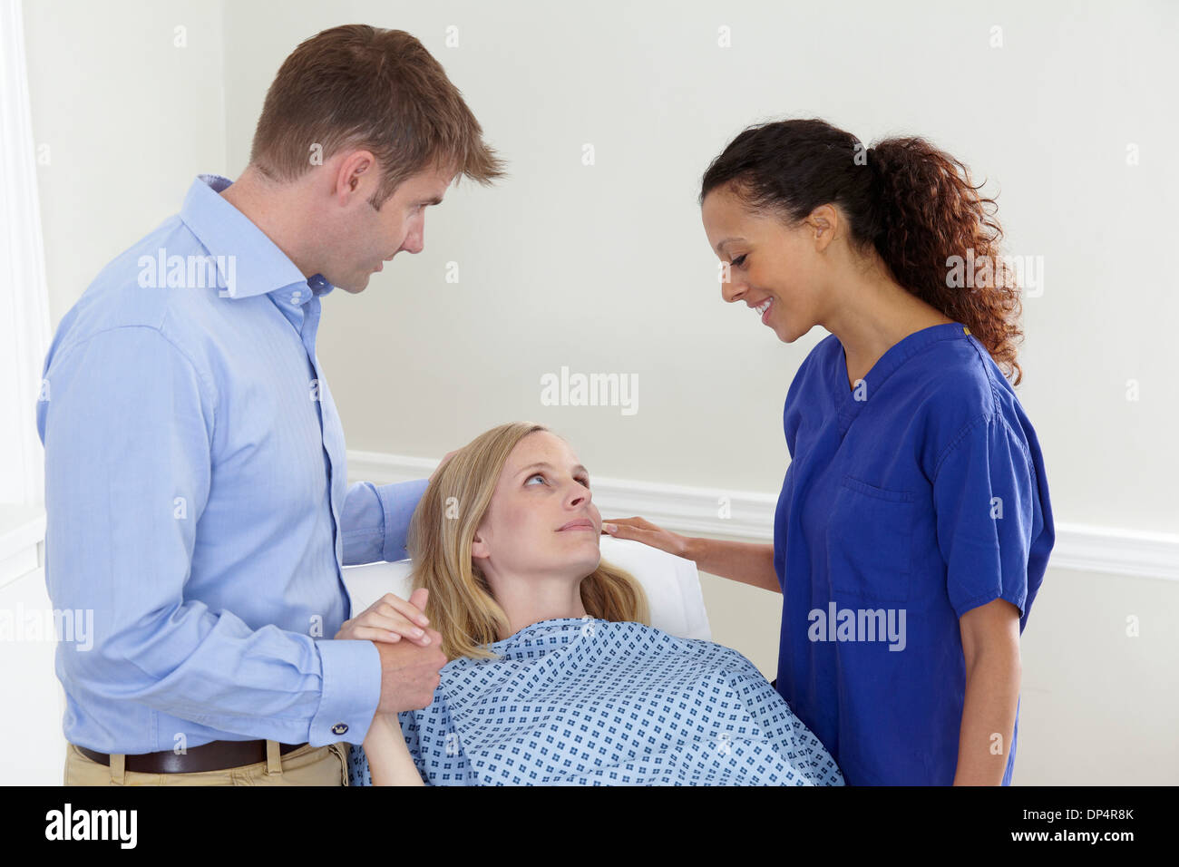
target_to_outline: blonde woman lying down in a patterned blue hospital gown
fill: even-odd
[[[351,784],[843,784],[749,659],[646,625],[600,533],[585,468],[540,425],[496,427],[443,465],[409,552],[450,662],[428,708],[377,714]]]

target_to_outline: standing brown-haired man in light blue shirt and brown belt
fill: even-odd
[[[340,51],[356,68],[332,65]],[[407,91],[433,90],[386,105],[382,55],[419,65],[397,83]],[[332,639],[350,616],[342,566],[407,557],[426,480],[347,486],[315,339],[335,287],[358,293],[382,261],[422,249],[422,210],[456,175],[498,176],[456,94],[400,31],[307,40],[270,88],[238,182],[199,176],[58,327],[37,407],[46,582],[55,609],[93,611],[93,646],[58,646],[80,751],[67,782],[75,761],[116,782],[258,762],[274,775],[296,749],[360,744],[377,711],[429,703],[446,662],[436,639]],[[391,130],[410,110],[437,118],[407,146]],[[291,125],[321,143],[320,162],[292,168]]]

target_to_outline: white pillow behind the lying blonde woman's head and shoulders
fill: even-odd
[[[696,564],[633,539],[601,537],[601,557],[625,569],[643,585],[651,607],[651,625],[680,638],[712,639]],[[355,617],[386,593],[408,599],[410,560],[344,566],[344,586]]]

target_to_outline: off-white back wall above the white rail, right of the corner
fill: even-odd
[[[360,296],[330,298],[320,354],[349,447],[440,457],[493,425],[536,419],[599,475],[777,491],[782,402],[825,334],[783,344],[722,302],[696,196],[746,124],[821,116],[865,143],[926,134],[992,178],[1009,251],[1045,257],[1019,393],[1061,519],[1179,530],[1179,464],[1161,460],[1179,422],[1179,293],[1146,252],[1170,249],[1179,228],[1160,195],[1179,188],[1179,117],[1159,105],[1161,83],[1175,80],[1175,5],[270,8],[226,7],[235,172],[283,58],[351,21],[419,37],[511,160],[499,188],[463,184],[428,210],[423,252],[399,255]],[[996,24],[1005,46],[989,48]],[[448,25],[457,48],[444,46]],[[720,25],[729,50],[716,45]],[[1127,143],[1140,165],[1126,165]],[[457,285],[444,282],[450,261]],[[541,406],[540,376],[561,366],[638,374],[638,414]]]

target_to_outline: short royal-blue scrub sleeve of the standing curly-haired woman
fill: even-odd
[[[1007,599],[1023,628],[1036,495],[1027,446],[999,413],[980,416],[947,447],[934,475],[934,508],[959,617]]]

